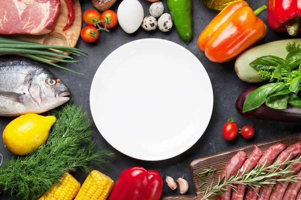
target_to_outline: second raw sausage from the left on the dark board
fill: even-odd
[[[262,155],[262,151],[256,145],[254,145],[254,150],[248,157],[248,159],[243,163],[242,167],[239,170],[239,175],[244,171],[248,171],[249,169],[254,168],[257,165],[258,160]],[[246,189],[246,185],[243,184],[235,184],[237,186],[236,191],[232,192],[232,200],[243,200],[243,195]]]

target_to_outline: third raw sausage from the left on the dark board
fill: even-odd
[[[266,162],[266,166],[269,166],[273,163],[274,159],[282,152],[285,148],[285,145],[282,143],[276,143],[271,145],[261,156],[258,161],[259,165],[264,165]],[[260,187],[255,187],[256,191],[258,192]],[[245,200],[256,200],[257,194],[252,188],[247,189],[247,193],[245,195]]]

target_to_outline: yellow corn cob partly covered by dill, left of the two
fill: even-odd
[[[79,189],[80,183],[70,173],[65,173],[60,183],[54,184],[39,200],[72,200]]]

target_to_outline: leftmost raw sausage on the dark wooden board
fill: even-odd
[[[237,171],[240,169],[244,161],[246,160],[247,154],[244,151],[238,151],[227,163],[223,173],[222,177],[224,177],[226,174],[226,178],[228,178],[230,175],[235,175]],[[218,200],[230,200],[231,199],[231,191],[232,188],[227,186],[225,189],[228,190],[228,192],[224,192],[224,196],[219,195]]]

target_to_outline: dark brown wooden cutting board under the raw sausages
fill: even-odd
[[[274,140],[270,140],[270,141],[266,141],[266,142],[257,143],[255,145],[257,145],[259,148],[261,148],[262,152],[264,152],[272,144],[275,144],[278,142],[283,143],[286,145],[286,147],[288,147],[291,144],[294,144],[299,141],[301,141],[301,133],[289,135],[286,137],[282,137],[279,139],[274,139]],[[194,185],[190,185],[190,186],[191,187],[194,186],[196,196],[188,196],[188,195],[164,196],[162,199],[163,200],[190,200],[190,199],[199,200],[199,199],[202,199],[203,192],[201,190],[204,189],[207,185],[209,185],[212,182],[213,178],[214,178],[214,185],[217,183],[218,177],[222,174],[224,167],[226,166],[226,164],[228,163],[228,161],[231,159],[231,157],[233,155],[235,155],[238,151],[243,150],[247,153],[247,157],[248,157],[252,153],[253,149],[254,149],[254,145],[249,145],[249,146],[236,148],[236,149],[232,149],[232,150],[225,151],[222,153],[217,153],[214,155],[210,155],[210,156],[206,156],[206,157],[202,157],[202,158],[193,160],[190,163],[190,170],[191,170],[191,174],[193,177]],[[199,172],[203,171],[203,169],[207,169],[208,165],[215,168],[216,171],[214,172],[213,176],[208,176],[208,177],[206,176],[207,184],[200,187],[201,184],[203,183],[203,181],[198,176],[196,176],[194,174],[194,172],[199,173]]]

